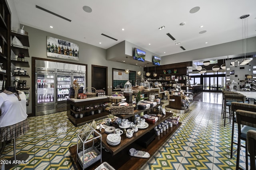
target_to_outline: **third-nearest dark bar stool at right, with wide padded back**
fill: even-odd
[[[237,145],[236,142],[234,142],[234,125],[236,123],[236,110],[246,110],[246,111],[253,111],[256,112],[256,105],[255,104],[246,104],[246,103],[239,103],[239,102],[232,102],[231,103],[231,110],[232,110],[232,135],[231,135],[231,149],[230,149],[230,158],[233,158],[233,155],[236,153],[237,149],[233,151],[234,144]],[[245,146],[241,146],[245,147]]]

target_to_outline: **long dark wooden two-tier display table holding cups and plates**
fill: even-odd
[[[169,129],[166,129],[164,133],[161,133],[160,136],[156,136],[156,139],[148,145],[147,149],[144,147],[138,145],[135,141],[145,135],[148,132],[154,133],[154,127],[157,126],[162,121],[168,119],[171,116],[171,113],[166,113],[164,117],[159,117],[157,123],[155,124],[149,124],[149,127],[146,129],[139,129],[138,132],[134,133],[132,138],[126,138],[126,136],[123,134],[121,135],[121,143],[118,146],[111,146],[108,145],[106,142],[106,136],[108,134],[104,133],[102,131],[102,145],[106,147],[106,149],[109,150],[109,152],[106,152],[104,149],[102,150],[102,162],[108,162],[111,166],[113,166],[116,170],[117,169],[140,169],[150,158],[137,158],[134,156],[130,156],[129,150],[131,148],[134,148],[136,150],[143,150],[150,154],[150,157],[154,155],[154,153],[163,145],[163,143],[169,139],[169,137],[180,127],[181,123],[178,123],[177,125],[174,125],[173,127],[170,127]],[[69,148],[72,160],[74,164],[78,166],[78,168],[81,169],[80,165],[76,163],[76,145]],[[92,166],[90,166],[88,169],[95,169],[101,164],[100,161],[96,162]]]

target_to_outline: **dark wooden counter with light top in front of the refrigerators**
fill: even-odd
[[[75,126],[99,119],[109,114],[104,111],[109,100],[107,96],[86,99],[68,98],[67,116]]]

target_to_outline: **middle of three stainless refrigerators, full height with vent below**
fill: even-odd
[[[67,110],[66,97],[70,98],[71,76],[71,70],[56,70],[56,112]]]

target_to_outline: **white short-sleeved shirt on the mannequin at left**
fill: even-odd
[[[14,125],[26,120],[26,95],[19,91],[20,101],[15,94],[0,93],[0,109],[2,115],[0,116],[0,127]]]

